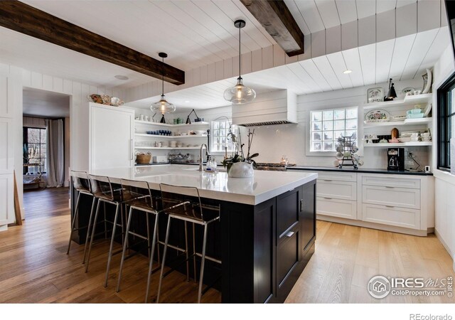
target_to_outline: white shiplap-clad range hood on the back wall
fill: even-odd
[[[232,124],[244,127],[297,123],[297,96],[288,90],[262,93],[255,101],[232,106]]]

